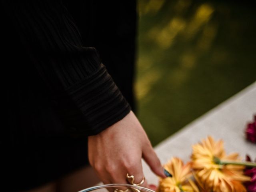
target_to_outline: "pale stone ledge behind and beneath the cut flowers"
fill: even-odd
[[[223,139],[227,153],[238,152],[256,158],[256,144],[245,139],[246,124],[256,114],[256,82],[200,116],[155,147],[162,163],[173,156],[189,160],[191,146],[211,135],[215,140]],[[149,183],[158,184],[158,178],[143,162],[144,174]]]

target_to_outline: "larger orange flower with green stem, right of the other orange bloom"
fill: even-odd
[[[222,140],[215,142],[208,136],[192,149],[192,168],[205,191],[246,192],[242,182],[250,181],[250,177],[243,174],[244,166],[217,163],[222,160],[240,162],[237,153],[226,155]]]

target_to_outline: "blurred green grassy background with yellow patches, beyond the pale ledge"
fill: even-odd
[[[153,145],[256,81],[250,2],[138,0],[137,7],[138,118]]]

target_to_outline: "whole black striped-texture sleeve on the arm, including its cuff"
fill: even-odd
[[[60,1],[6,1],[3,5],[21,40],[19,46],[32,60],[29,67],[57,103],[60,119],[76,133],[98,134],[130,112],[95,48],[82,46]]]

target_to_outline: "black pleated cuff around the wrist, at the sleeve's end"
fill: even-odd
[[[76,108],[64,117],[73,134],[98,134],[131,110],[103,64],[66,92]]]

